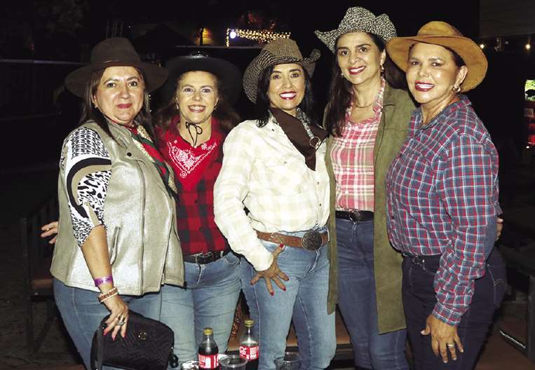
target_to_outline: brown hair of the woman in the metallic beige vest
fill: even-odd
[[[135,68],[135,67],[134,67]],[[141,79],[144,83],[145,76],[141,69],[135,68],[137,73],[140,74]],[[111,135],[111,131],[109,130],[109,123],[107,121],[106,116],[102,114],[100,109],[97,109],[95,107],[95,104],[93,104],[93,97],[97,93],[98,85],[100,84],[100,79],[102,78],[102,75],[104,74],[103,69],[97,69],[96,71],[93,71],[93,74],[91,74],[91,77],[89,78],[88,82],[86,83],[86,89],[83,93],[83,105],[82,105],[82,114],[80,118],[80,124],[93,120],[97,125],[99,125],[100,128],[104,132],[106,132],[111,139],[115,139],[114,135]],[[152,126],[151,121],[151,113],[150,113],[150,97],[149,92],[147,90],[144,91],[143,95],[143,106],[141,107],[140,112],[135,116],[134,121],[139,123],[144,127],[144,129],[149,133],[151,136],[151,139],[154,140],[154,128]]]

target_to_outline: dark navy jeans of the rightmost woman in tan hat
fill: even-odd
[[[475,366],[487,332],[492,324],[494,310],[500,306],[506,288],[506,266],[499,252],[494,249],[487,259],[485,275],[475,280],[474,294],[468,310],[457,325],[457,334],[464,352],[457,351],[457,360],[447,364],[431,350],[431,335],[422,336],[426,319],[433,312],[437,301],[433,281],[440,256],[426,256],[424,262],[412,257],[403,260],[403,306],[407,331],[412,346],[416,370],[471,370]]]

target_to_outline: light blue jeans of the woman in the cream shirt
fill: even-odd
[[[263,243],[271,252],[278,246],[272,242]],[[269,294],[264,281],[250,285],[257,272],[242,259],[242,289],[251,318],[255,320],[255,335],[259,338],[259,370],[275,369],[273,361],[284,355],[292,321],[299,353],[303,357],[301,369],[325,369],[334,357],[334,313],[327,315],[329,260],[326,249],[323,246],[316,252],[309,252],[302,248],[285,247],[277,262],[290,280],[284,282],[285,292],[273,284],[274,296]]]

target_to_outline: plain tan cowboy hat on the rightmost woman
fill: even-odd
[[[463,58],[468,74],[461,91],[468,91],[479,85],[487,74],[487,57],[481,48],[468,37],[463,36],[459,29],[446,22],[433,20],[419,29],[417,36],[395,37],[386,44],[386,52],[395,64],[403,71],[407,71],[409,48],[415,43],[431,43],[450,48]]]

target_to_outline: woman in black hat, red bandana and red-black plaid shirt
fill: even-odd
[[[241,73],[226,60],[201,53],[174,58],[165,67],[170,77],[156,131],[177,180],[186,282],[162,288],[161,321],[175,329],[175,353],[182,363],[197,358],[205,327],[214,329],[219,352],[225,352],[240,294],[240,260],[215,225],[213,191],[226,133],[239,121],[229,103],[241,91]]]

